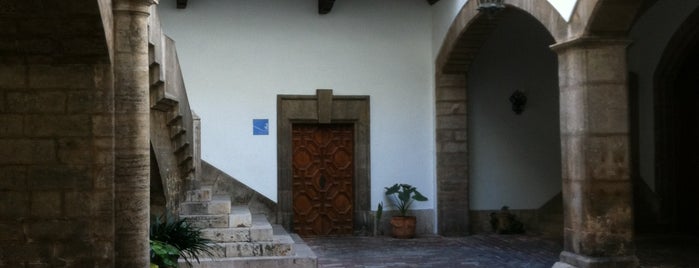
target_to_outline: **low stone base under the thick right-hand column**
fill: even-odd
[[[635,268],[638,258],[635,255],[619,257],[588,257],[568,251],[561,252],[561,261],[552,268]]]

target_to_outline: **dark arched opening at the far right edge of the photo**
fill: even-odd
[[[694,103],[699,99],[699,10],[675,32],[658,70],[655,186],[659,217],[650,226],[638,217],[637,226],[642,232],[699,235],[699,112]]]

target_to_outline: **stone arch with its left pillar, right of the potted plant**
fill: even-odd
[[[452,23],[436,60],[437,218],[442,235],[469,233],[467,74],[481,46],[508,12],[524,12],[559,41],[566,22],[548,1],[506,1],[494,17],[467,2]]]

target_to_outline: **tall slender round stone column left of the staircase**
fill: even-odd
[[[148,16],[156,0],[114,0],[115,262],[149,267]]]

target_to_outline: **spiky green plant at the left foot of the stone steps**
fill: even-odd
[[[182,257],[190,267],[190,258],[199,263],[200,256],[214,257],[216,246],[210,239],[201,235],[201,229],[192,226],[185,219],[173,217],[156,217],[150,228],[151,262],[159,267],[177,267],[177,259],[171,257],[175,253]],[[174,265],[171,261],[174,259]]]

